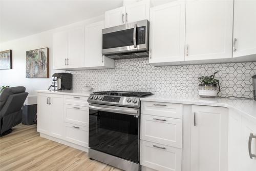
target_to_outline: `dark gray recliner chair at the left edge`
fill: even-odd
[[[22,123],[22,106],[28,96],[25,87],[9,87],[0,95],[0,137],[10,134]]]

